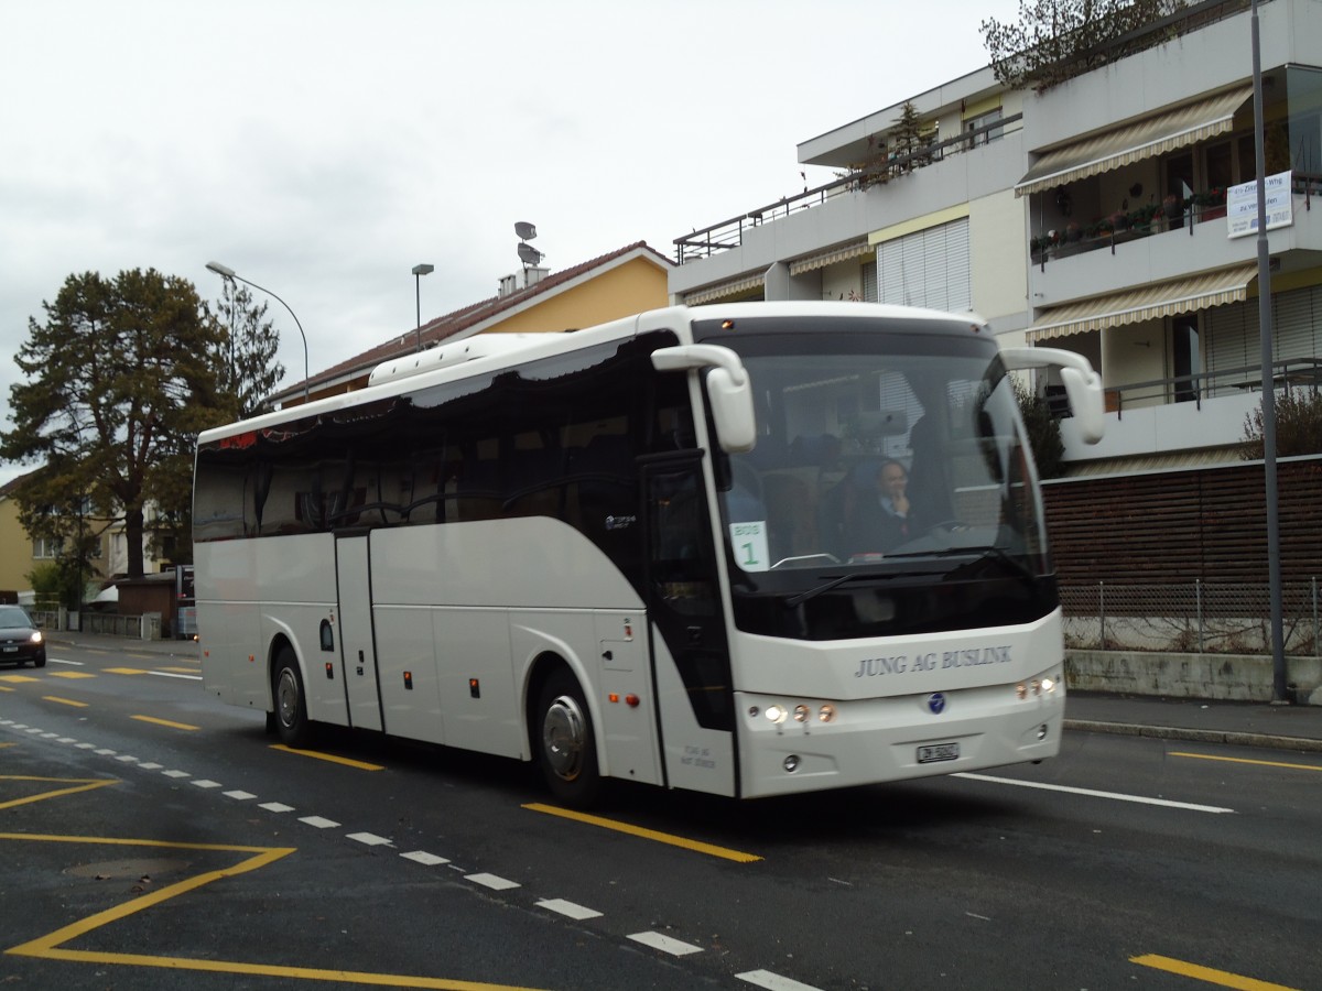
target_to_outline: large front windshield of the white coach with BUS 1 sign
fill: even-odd
[[[746,629],[866,636],[957,628],[957,612],[994,599],[1021,618],[1054,608],[1031,456],[992,341],[814,329],[720,342],[740,351],[758,410],[756,447],[718,470],[736,614],[761,617]],[[962,592],[943,600],[939,584]],[[924,605],[900,609],[915,589]]]

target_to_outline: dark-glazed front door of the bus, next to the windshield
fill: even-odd
[[[702,452],[644,459],[642,482],[666,781],[734,795],[734,691]]]

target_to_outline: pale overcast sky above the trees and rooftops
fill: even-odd
[[[279,293],[313,373],[496,293],[802,189],[796,145],[988,62],[1017,0],[0,4],[0,428],[74,272]],[[833,178],[808,168],[808,182]],[[258,293],[258,299],[262,299]],[[270,300],[286,382],[303,344]],[[0,462],[0,482],[28,468]]]

